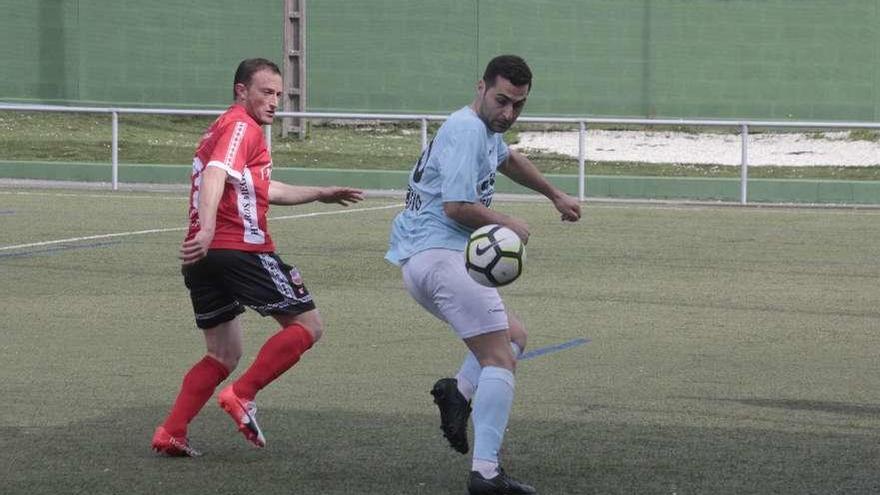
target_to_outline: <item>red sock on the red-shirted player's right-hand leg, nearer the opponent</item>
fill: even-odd
[[[232,384],[235,395],[254,400],[257,392],[293,367],[312,344],[312,334],[299,323],[282,328],[263,344],[251,367]]]

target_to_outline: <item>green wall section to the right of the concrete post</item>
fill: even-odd
[[[312,110],[446,112],[517,53],[531,115],[880,120],[880,0],[353,3],[309,3]]]

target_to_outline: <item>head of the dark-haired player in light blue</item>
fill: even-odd
[[[471,108],[492,132],[504,132],[516,122],[532,89],[532,70],[516,55],[499,55],[489,61],[477,83]]]

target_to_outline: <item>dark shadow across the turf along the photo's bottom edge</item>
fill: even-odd
[[[4,494],[461,494],[468,456],[427,415],[261,410],[265,449],[216,408],[197,459],[149,449],[164,406],[62,427],[0,429]],[[858,411],[857,411],[858,413]],[[589,414],[588,414],[589,415]],[[542,494],[877,493],[877,438],[749,428],[514,421],[508,470]]]

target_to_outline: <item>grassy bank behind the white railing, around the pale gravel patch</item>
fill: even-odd
[[[188,165],[192,163],[193,149],[211,120],[212,117],[123,115],[119,119],[119,160],[121,163]],[[432,123],[432,126],[436,127],[436,124]],[[517,124],[505,136],[505,140],[516,143],[516,130],[526,128],[528,126],[525,124]],[[565,129],[561,126],[551,128]],[[671,129],[695,131],[680,127]],[[0,111],[0,131],[0,158],[3,160],[110,162],[109,115]],[[275,131],[280,132],[280,125],[275,126]],[[736,129],[723,131],[738,132]],[[821,139],[821,133],[814,132],[812,136]],[[876,141],[878,134],[854,130],[850,138]],[[283,139],[276,135],[272,143],[272,156],[275,165],[281,167],[408,170],[418,158],[420,148],[420,130],[413,124],[328,124],[312,126],[305,140],[292,137]],[[532,153],[530,158],[544,173],[578,173],[577,160],[567,156]],[[740,175],[739,167],[700,163],[587,161],[585,166],[588,175]],[[880,166],[751,167],[749,175],[752,178],[880,180]]]

